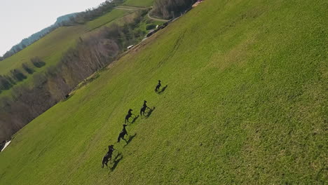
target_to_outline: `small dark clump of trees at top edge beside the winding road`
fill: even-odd
[[[197,0],[156,0],[153,5],[153,15],[172,19],[189,10]]]

